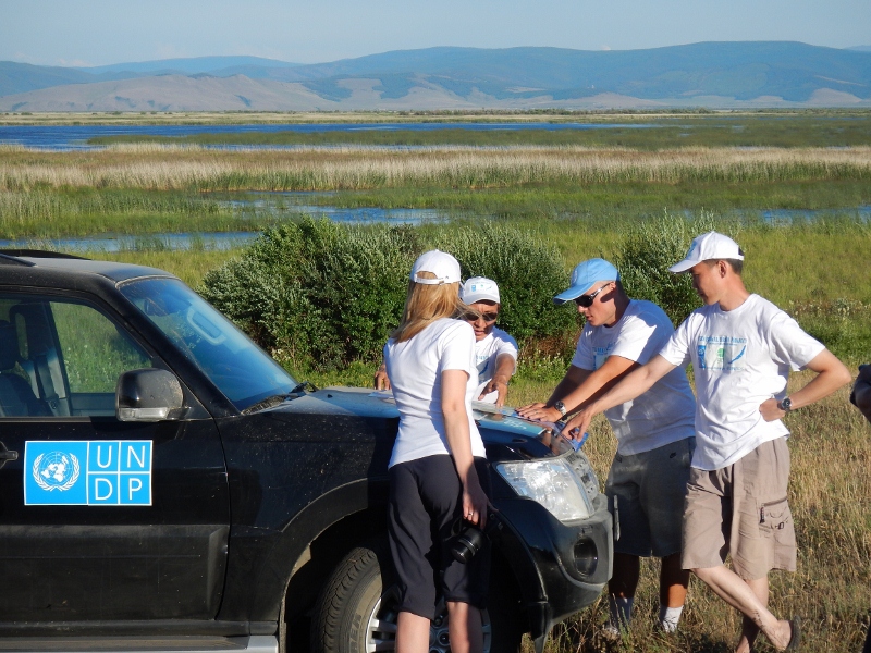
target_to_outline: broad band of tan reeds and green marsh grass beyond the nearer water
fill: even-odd
[[[0,237],[260,230],[214,193],[316,190],[312,204],[436,208],[456,215],[601,229],[663,210],[722,217],[871,205],[871,147],[432,147],[371,151],[210,150],[125,145],[105,151],[0,147]],[[244,197],[243,197],[244,198]]]

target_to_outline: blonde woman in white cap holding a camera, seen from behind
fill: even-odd
[[[468,322],[453,319],[462,309],[459,263],[427,251],[415,261],[402,322],[384,345],[400,409],[388,518],[400,586],[396,649],[405,652],[429,650],[439,594],[447,606],[451,650],[483,646],[489,550],[465,565],[447,550],[453,525],[462,518],[483,528],[488,506],[483,442],[471,417],[475,334]]]

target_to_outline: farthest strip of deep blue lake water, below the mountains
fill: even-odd
[[[650,128],[652,124],[622,123],[307,123],[307,124],[246,124],[246,125],[0,125],[0,144],[23,145],[24,147],[48,150],[95,149],[87,145],[89,138],[97,136],[147,135],[147,136],[192,136],[196,134],[244,134],[247,132],[356,132],[365,130],[395,131],[410,130],[427,132],[432,130],[613,130]],[[246,146],[248,147],[248,146]]]

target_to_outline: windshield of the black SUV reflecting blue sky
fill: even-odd
[[[238,410],[296,387],[281,366],[181,281],[146,279],[120,289]]]

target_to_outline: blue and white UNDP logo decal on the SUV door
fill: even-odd
[[[24,470],[24,505],[151,505],[150,440],[26,442]]]

